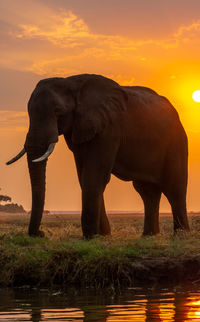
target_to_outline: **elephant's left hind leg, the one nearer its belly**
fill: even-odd
[[[133,186],[140,194],[144,203],[144,231],[143,235],[156,235],[159,229],[160,188],[154,183],[133,181]]]

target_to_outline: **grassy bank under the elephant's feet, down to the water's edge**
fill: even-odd
[[[45,238],[27,236],[27,215],[0,214],[0,285],[127,287],[200,280],[200,216],[191,233],[141,238],[143,217],[111,216],[112,237],[82,239],[79,216],[44,216]]]

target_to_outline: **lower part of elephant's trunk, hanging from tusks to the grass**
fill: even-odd
[[[45,201],[45,174],[47,160],[34,163],[33,159],[44,153],[41,149],[37,149],[37,153],[32,151],[27,152],[28,167],[32,188],[32,210],[29,224],[29,235],[41,236],[39,231],[42,213],[44,210]]]

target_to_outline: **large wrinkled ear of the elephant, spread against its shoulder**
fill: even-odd
[[[78,95],[72,141],[78,144],[93,139],[126,110],[127,100],[126,92],[117,83],[91,75]]]

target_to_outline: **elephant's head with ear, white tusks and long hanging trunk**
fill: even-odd
[[[40,81],[28,102],[29,131],[23,150],[27,153],[32,186],[29,234],[37,235],[44,207],[46,160],[58,136],[72,144],[92,140],[126,108],[127,96],[114,81],[98,75],[77,75]]]

